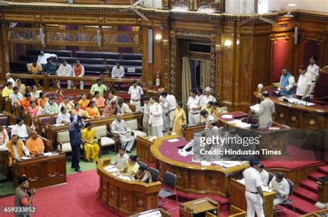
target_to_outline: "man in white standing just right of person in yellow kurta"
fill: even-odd
[[[197,90],[190,91],[190,97],[187,102],[189,124],[201,122],[201,97],[197,95]]]

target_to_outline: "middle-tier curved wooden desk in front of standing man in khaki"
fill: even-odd
[[[237,134],[242,136],[244,133],[249,133],[253,137],[259,137],[259,146],[258,149],[268,149],[270,151],[282,151],[286,153],[287,151],[287,133],[291,131],[289,126],[273,123],[273,126],[279,127],[279,131],[263,131],[257,129],[248,129],[248,128],[240,128],[233,123],[230,123],[233,119],[223,118],[222,115],[235,115],[237,117],[242,116],[242,111],[234,111],[230,113],[224,113],[219,115],[219,126],[224,126],[226,129],[230,127],[235,127],[237,129]],[[246,113],[244,113],[247,115]]]

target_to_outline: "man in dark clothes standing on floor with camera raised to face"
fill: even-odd
[[[82,172],[80,167],[80,146],[82,145],[81,129],[85,126],[82,118],[78,115],[71,116],[69,124],[69,142],[72,147],[72,165],[71,168],[77,172]]]

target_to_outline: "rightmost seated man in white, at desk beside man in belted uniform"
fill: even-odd
[[[273,200],[273,205],[278,205],[287,200],[289,195],[289,183],[282,173],[279,172],[275,174],[275,177],[272,178],[268,187],[277,192],[277,194],[275,194],[275,199]]]

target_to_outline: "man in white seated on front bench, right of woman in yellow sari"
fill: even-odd
[[[131,153],[131,148],[134,145],[134,136],[131,135],[131,129],[122,120],[122,115],[117,114],[116,120],[111,123],[111,133],[117,134],[120,137],[120,143],[126,148],[127,153]]]

